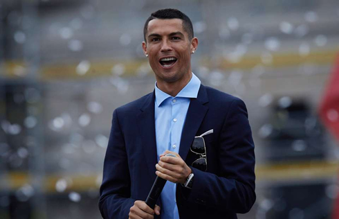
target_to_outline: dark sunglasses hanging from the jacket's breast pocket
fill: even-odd
[[[203,137],[194,137],[191,151],[194,152],[194,154],[199,155],[200,158],[196,159],[192,163],[192,167],[197,168],[201,171],[207,170],[207,157],[206,157],[206,146],[205,146],[205,140]]]

